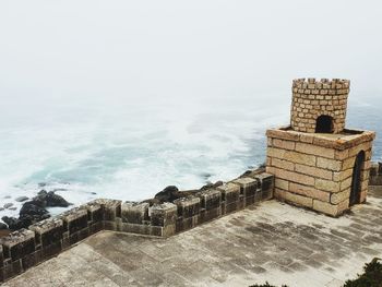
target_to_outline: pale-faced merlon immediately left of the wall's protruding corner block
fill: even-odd
[[[123,202],[121,206],[123,223],[143,224],[148,219],[148,206],[146,202]]]

